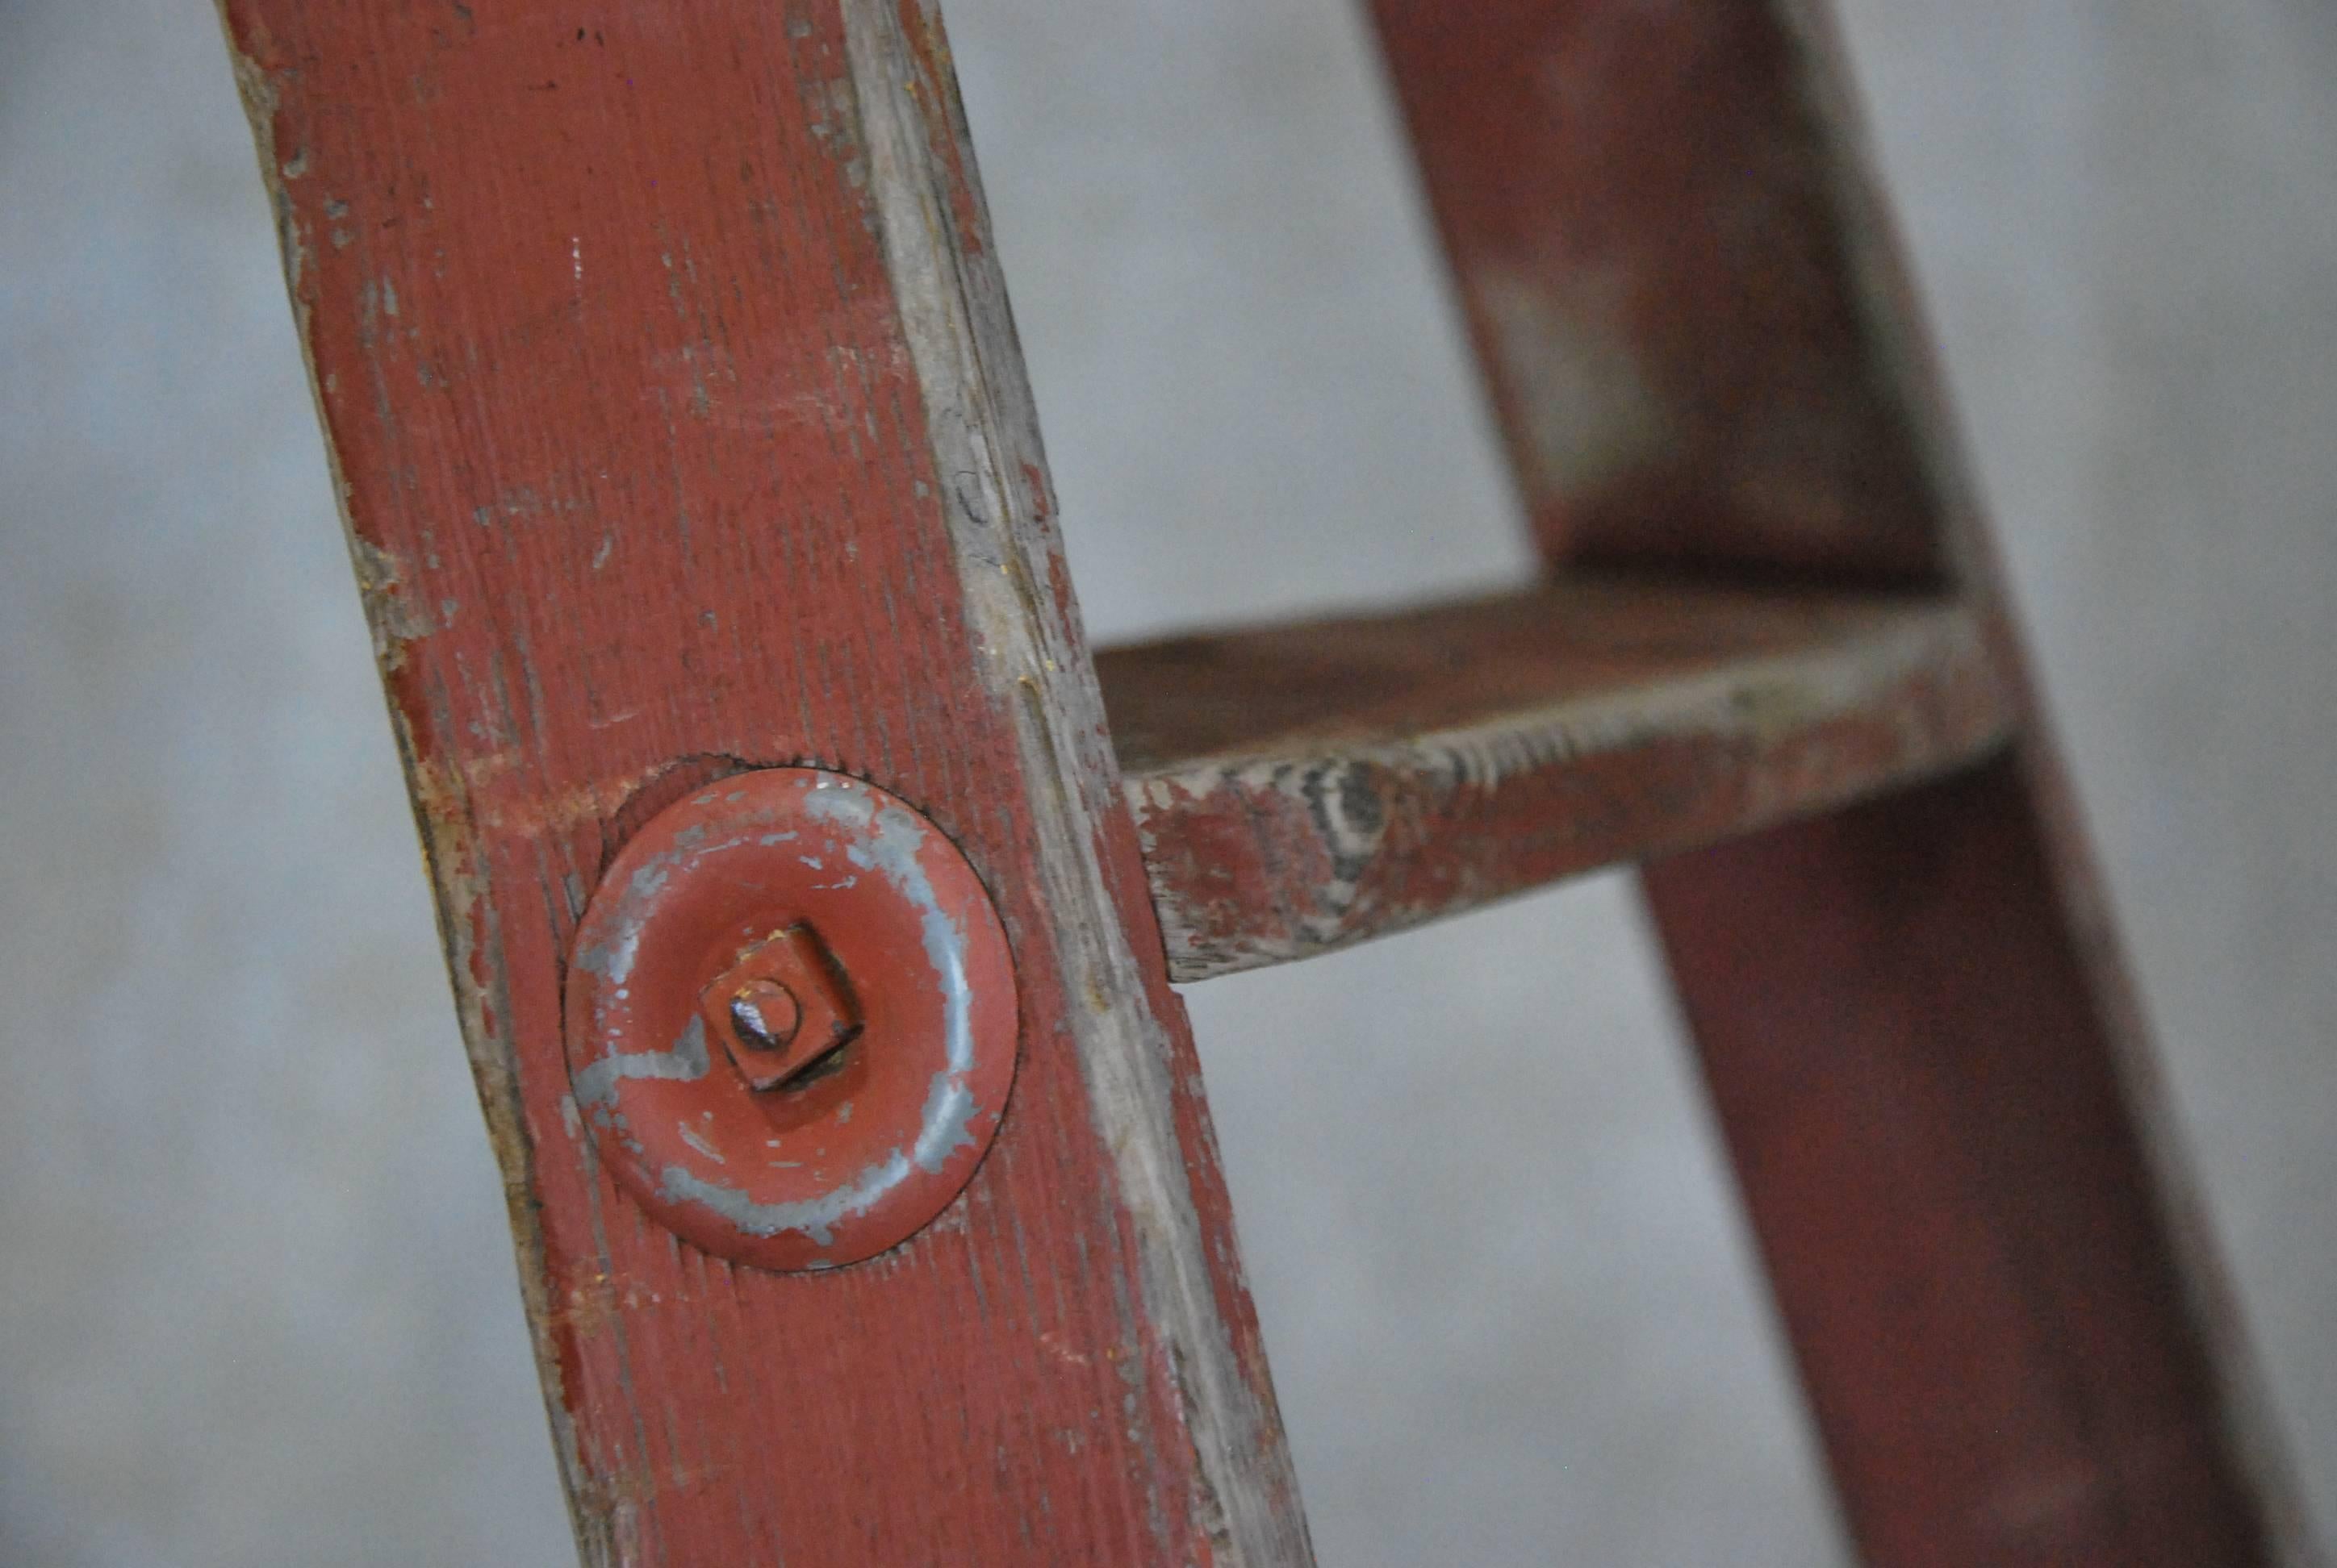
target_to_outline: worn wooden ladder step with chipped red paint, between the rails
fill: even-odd
[[[1173,979],[1325,953],[1975,762],[1937,596],[1573,575],[1096,657]]]

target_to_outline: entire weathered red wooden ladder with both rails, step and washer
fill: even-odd
[[[1381,0],[1552,580],[1101,659],[930,0],[222,9],[587,1561],[1306,1561],[1168,979],[1610,860],[1865,1561],[2304,1559],[1804,0]]]

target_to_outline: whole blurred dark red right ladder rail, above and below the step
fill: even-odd
[[[1554,568],[1949,584],[1977,773],[1645,876],[1870,1563],[2316,1561],[1809,0],[1374,0]]]

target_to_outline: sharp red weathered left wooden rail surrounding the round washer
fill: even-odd
[[[584,1556],[1304,1561],[932,9],[224,14]],[[1024,998],[968,1192],[818,1276],[650,1222],[561,1056],[626,834],[792,762],[965,848]]]

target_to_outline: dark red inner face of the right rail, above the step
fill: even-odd
[[[1545,551],[1937,580],[1778,7],[1372,9]]]

